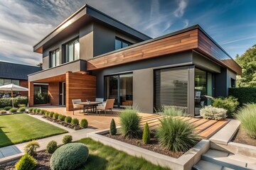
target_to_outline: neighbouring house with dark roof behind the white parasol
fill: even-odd
[[[28,74],[38,72],[41,67],[14,64],[11,62],[0,62],[0,86],[6,84],[16,84],[28,88]],[[28,96],[28,91],[14,91],[14,96],[18,94]],[[10,91],[0,91],[0,98],[10,96]]]

